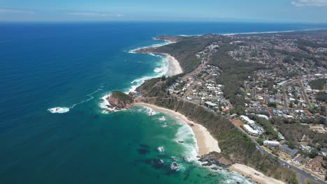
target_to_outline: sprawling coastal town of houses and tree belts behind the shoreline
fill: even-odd
[[[194,53],[198,66],[170,82],[167,93],[228,118],[263,155],[277,158],[284,167],[309,174],[314,181],[326,180],[326,31],[316,36],[270,33],[203,39],[214,41]],[[234,73],[244,75],[235,79],[239,89],[226,82],[234,77],[226,77],[231,70],[228,63],[215,63],[221,53],[231,64],[241,61],[254,66],[252,72],[235,69]]]

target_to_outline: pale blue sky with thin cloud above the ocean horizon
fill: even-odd
[[[0,0],[0,21],[327,23],[327,0]]]

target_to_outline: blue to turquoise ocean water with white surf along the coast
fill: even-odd
[[[155,36],[326,27],[226,22],[1,23],[0,181],[247,183],[238,174],[185,162],[183,157],[194,157],[189,153],[196,150],[196,142],[191,130],[175,118],[147,116],[143,107],[103,114],[101,98],[162,75],[167,67],[164,58],[129,53],[162,43],[153,40]],[[48,111],[52,107],[71,109],[52,114]],[[162,117],[164,121],[159,120]],[[176,139],[187,142],[178,144]],[[157,151],[158,146],[165,148],[164,153]],[[172,157],[181,164],[180,171],[170,169]]]

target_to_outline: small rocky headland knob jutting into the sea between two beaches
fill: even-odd
[[[133,93],[126,95],[120,91],[114,91],[108,98],[110,108],[119,109],[130,109],[134,105]]]

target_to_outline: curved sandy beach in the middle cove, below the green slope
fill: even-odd
[[[136,102],[136,105],[150,107],[154,110],[157,110],[158,112],[163,112],[165,114],[178,118],[183,122],[187,123],[187,125],[190,125],[198,144],[198,155],[205,155],[206,153],[210,153],[212,151],[216,151],[218,153],[221,152],[218,146],[218,141],[210,135],[210,132],[208,132],[208,130],[203,125],[194,123],[193,121],[189,121],[189,119],[184,115],[180,114],[179,112],[174,112],[170,109],[157,107],[156,105],[151,105],[143,102]]]

